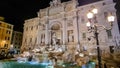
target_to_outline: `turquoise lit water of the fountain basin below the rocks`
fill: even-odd
[[[63,68],[95,68],[95,63],[89,62],[88,64],[82,67],[71,65],[70,63],[64,63],[62,67]],[[51,66],[50,63],[0,61],[0,68],[53,68],[53,66]]]

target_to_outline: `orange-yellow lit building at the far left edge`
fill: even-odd
[[[0,53],[7,52],[11,45],[13,25],[0,21]]]

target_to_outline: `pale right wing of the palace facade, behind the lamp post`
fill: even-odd
[[[89,46],[88,49],[91,47],[96,47],[95,39],[91,39],[90,41],[87,40],[88,37],[94,36],[94,35],[93,35],[93,33],[92,34],[88,33],[87,27],[85,27],[86,22],[88,22],[86,14],[89,12],[89,10],[92,9],[93,6],[98,9],[98,14],[96,15],[98,25],[100,25],[100,26],[102,25],[107,28],[110,28],[109,22],[107,21],[107,18],[106,18],[108,13],[112,13],[116,18],[116,10],[114,8],[115,4],[109,0],[100,1],[100,2],[96,2],[96,3],[78,7],[79,22],[80,22],[80,24],[79,24],[79,26],[80,26],[80,28],[79,28],[80,29],[80,41],[81,41],[81,44],[83,43],[82,44],[83,46],[86,46],[86,47]],[[111,40],[113,40],[115,37],[120,36],[116,19],[115,19],[115,22],[113,22],[113,27],[111,30],[111,32],[112,32],[111,38],[108,38],[106,30],[104,30],[102,27],[99,27],[98,30],[99,30],[100,47],[103,50],[106,49],[106,47],[113,45],[113,44],[111,44],[111,43],[113,43]],[[86,39],[84,39],[84,40],[82,38],[83,33],[86,34]],[[94,46],[91,46],[91,45],[94,45]],[[109,49],[107,49],[107,50],[109,50]]]

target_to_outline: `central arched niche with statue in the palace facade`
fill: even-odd
[[[60,23],[54,22],[51,26],[51,44],[60,45],[62,41],[62,30]]]

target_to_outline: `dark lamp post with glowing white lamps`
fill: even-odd
[[[87,17],[88,17],[88,20],[89,22],[86,24],[87,27],[89,27],[89,30],[91,30],[91,32],[94,33],[94,37],[95,37],[95,40],[96,40],[96,45],[97,45],[97,59],[98,59],[98,66],[99,68],[102,68],[102,65],[101,65],[101,54],[100,54],[100,47],[99,47],[99,39],[98,39],[98,27],[101,26],[101,25],[98,25],[97,24],[97,21],[96,21],[96,15],[98,13],[98,10],[96,8],[94,8],[92,11],[90,11],[88,14],[87,14]],[[113,26],[113,21],[114,21],[114,16],[110,15],[108,16],[108,22],[110,24],[110,26],[112,27]],[[94,21],[92,21],[94,20]],[[92,26],[91,26],[91,23],[92,23]],[[102,26],[104,27],[104,29],[108,30],[107,28],[105,28],[105,26]],[[112,29],[112,28],[110,28]]]

